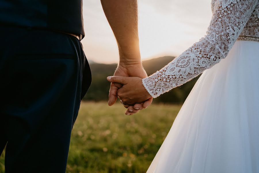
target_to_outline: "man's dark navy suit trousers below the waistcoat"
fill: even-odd
[[[68,34],[0,27],[0,153],[5,172],[64,173],[91,71]]]

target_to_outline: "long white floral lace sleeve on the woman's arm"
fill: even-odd
[[[207,35],[153,75],[142,79],[152,97],[170,91],[225,58],[258,0],[217,0]]]

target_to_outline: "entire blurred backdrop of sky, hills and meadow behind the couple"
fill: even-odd
[[[138,0],[138,6],[141,58],[148,75],[199,41],[212,16],[207,0]],[[199,76],[126,116],[121,104],[108,106],[106,77],[113,75],[119,53],[100,1],[83,0],[83,18],[82,44],[93,80],[72,131],[66,172],[146,172]],[[5,172],[4,156],[0,173]]]

